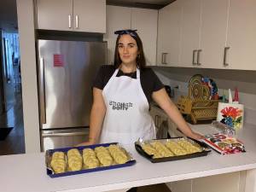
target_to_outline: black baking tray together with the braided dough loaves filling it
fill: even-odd
[[[189,147],[185,146],[186,144]],[[154,149],[156,149],[157,152],[160,151],[160,153],[154,154],[152,152],[154,151],[154,149],[152,148],[151,148],[152,150],[147,149],[148,145],[149,145],[149,148],[153,147]],[[167,148],[167,150],[157,145],[160,145],[160,146],[164,145]],[[146,159],[150,160],[152,163],[160,163],[160,162],[166,162],[166,161],[172,161],[172,160],[185,160],[185,159],[190,159],[195,157],[206,156],[209,152],[211,152],[211,148],[208,148],[208,146],[205,143],[201,143],[196,140],[192,140],[185,137],[174,137],[171,139],[160,139],[160,140],[154,139],[154,140],[147,140],[147,141],[143,141],[142,139],[139,139],[135,143],[135,148],[139,154],[141,154]],[[146,152],[146,150],[148,151],[148,153]],[[165,150],[166,152],[163,152]],[[169,153],[168,151],[171,153]]]

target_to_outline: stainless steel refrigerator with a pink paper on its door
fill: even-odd
[[[106,42],[38,40],[42,151],[88,138],[93,79],[106,62]]]

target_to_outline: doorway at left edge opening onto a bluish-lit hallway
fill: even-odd
[[[25,153],[18,32],[0,31],[0,155]]]

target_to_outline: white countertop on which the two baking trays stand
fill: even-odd
[[[205,131],[210,128],[192,125],[192,129]],[[238,136],[246,145],[246,153],[220,155],[212,151],[204,157],[153,164],[137,154],[131,145],[125,148],[137,160],[135,166],[68,177],[47,176],[44,153],[0,156],[0,191],[108,191],[255,169],[256,127],[246,125]]]

